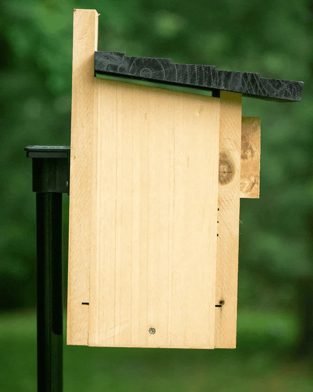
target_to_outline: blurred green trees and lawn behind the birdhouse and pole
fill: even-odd
[[[88,376],[88,383],[83,387],[82,381],[74,383],[76,370],[72,366],[68,390],[174,391],[186,388],[184,390],[205,391],[216,385],[213,378],[203,376],[212,366],[207,367],[209,359],[219,364],[219,368],[211,367],[214,374],[222,376],[219,369],[227,366],[230,375],[236,378],[235,374],[239,374],[242,382],[246,382],[243,386],[232,379],[228,386],[219,384],[217,390],[312,390],[313,380],[305,369],[313,353],[313,2],[3,0],[2,4],[0,308],[3,316],[0,330],[3,345],[0,345],[7,350],[5,357],[11,355],[12,363],[8,360],[7,368],[1,372],[6,371],[14,379],[12,369],[16,366],[16,358],[21,361],[22,348],[25,352],[27,349],[35,352],[32,345],[35,342],[34,311],[28,315],[21,313],[22,309],[35,307],[35,197],[31,192],[31,162],[26,160],[23,148],[28,144],[70,143],[72,11],[73,8],[96,8],[101,14],[99,50],[169,57],[173,62],[212,64],[218,69],[260,72],[269,78],[302,80],[305,85],[301,103],[243,99],[243,116],[262,118],[262,153],[260,200],[241,200],[236,350],[239,353],[225,350],[214,353],[213,357],[212,353],[200,354],[193,350],[188,353],[172,350],[173,354],[170,354],[167,350],[134,349],[130,353],[129,350],[109,349],[101,357],[100,352],[104,351],[89,349],[94,356],[90,360],[93,364],[106,358],[104,368],[97,369],[93,379]],[[67,196],[64,199],[66,267]],[[282,374],[277,371],[275,377],[272,376],[276,380],[280,375],[278,381],[268,376],[268,384],[260,375],[256,376],[265,382],[262,387],[260,383],[253,383],[251,376],[249,383],[250,378],[243,370],[231,367],[235,359],[241,358],[241,366],[247,358],[253,357],[251,352],[262,351],[264,346],[268,350],[260,363],[256,360],[256,367],[270,375],[273,358],[281,361],[287,354],[291,358],[286,365],[287,372],[290,373],[290,368],[294,369],[300,361],[299,377],[294,372],[290,383],[280,384],[285,380],[282,374],[286,370],[280,369]],[[77,348],[68,350],[65,356],[72,360],[71,355],[80,358]],[[279,354],[275,357],[277,350]],[[84,351],[77,366],[86,365],[84,358],[87,355]],[[112,362],[108,361],[108,356]],[[22,358],[26,359],[26,354]],[[30,362],[35,363],[35,357],[31,358],[33,362]],[[135,366],[129,365],[128,359],[141,367],[156,361],[153,366],[159,366],[159,370],[164,361],[168,366],[174,363],[173,374],[168,374],[167,380],[174,376],[182,380],[188,369],[198,380],[200,368],[204,381],[194,384],[190,375],[193,387],[188,387],[186,380],[181,386],[179,381],[166,384],[169,381],[164,381],[166,370],[163,369],[162,383],[160,378],[157,381],[155,374],[153,379],[150,368],[141,374]],[[66,362],[69,374],[72,360]],[[263,366],[262,361],[270,365]],[[120,366],[126,362],[128,376],[124,376],[128,383],[123,387],[122,382],[114,383],[121,375],[112,364]],[[191,367],[190,362],[193,363]],[[26,368],[24,365],[18,367],[18,372],[24,375],[19,384],[16,379],[15,384],[13,381],[8,384],[6,379],[2,390],[34,390],[32,385],[35,384],[31,380],[35,380],[35,373],[26,376]],[[249,369],[253,373],[254,368]],[[93,367],[89,370],[94,371]],[[30,367],[29,372],[32,371],[35,368]],[[103,372],[108,378],[101,378]],[[129,381],[130,374],[134,373],[136,383],[142,380],[137,388],[131,384],[133,379]],[[150,384],[148,380],[152,380]],[[174,385],[178,385],[177,389]]]

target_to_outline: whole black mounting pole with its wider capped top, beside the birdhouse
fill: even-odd
[[[37,231],[37,390],[63,391],[62,193],[70,148],[27,146],[33,158]]]

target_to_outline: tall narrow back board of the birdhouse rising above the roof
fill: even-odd
[[[74,10],[69,211],[67,343],[88,344],[89,264],[92,252],[91,173],[96,156],[94,51],[98,13]]]

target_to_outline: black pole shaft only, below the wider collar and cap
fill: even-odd
[[[62,193],[37,193],[37,385],[63,390]]]

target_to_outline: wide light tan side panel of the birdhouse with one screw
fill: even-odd
[[[219,99],[100,81],[88,344],[213,348]]]

